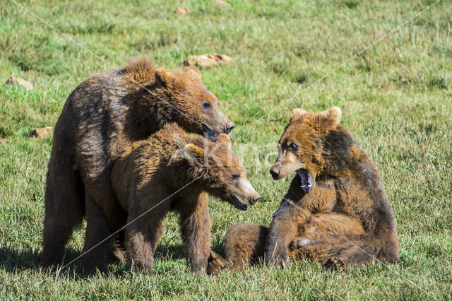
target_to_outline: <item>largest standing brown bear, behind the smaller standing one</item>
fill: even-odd
[[[213,139],[234,128],[194,67],[165,71],[141,58],[124,69],[92,76],[73,90],[55,125],[47,171],[44,266],[61,263],[64,247],[85,211],[83,252],[124,225],[126,215],[110,184],[112,163],[126,146],[167,122]],[[88,252],[85,270],[105,270],[97,259],[111,245],[109,240]]]

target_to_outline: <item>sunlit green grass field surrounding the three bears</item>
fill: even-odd
[[[434,1],[231,0],[225,8],[210,0],[20,4],[108,64],[13,1],[0,1],[1,300],[451,300],[451,0],[439,1],[312,86]],[[179,5],[191,13],[174,14]],[[270,224],[290,181],[275,182],[268,174],[290,110],[336,105],[381,172],[404,264],[333,273],[300,261],[283,271],[254,266],[198,277],[186,267],[177,216],[171,215],[153,275],[112,264],[110,275],[84,278],[78,261],[57,274],[40,269],[52,137],[28,138],[28,131],[54,126],[78,83],[129,57],[146,55],[159,66],[181,69],[189,55],[213,52],[230,55],[234,64],[203,69],[203,81],[236,124],[233,149],[263,196],[247,212],[211,200],[213,248],[221,252],[222,237],[234,223]],[[10,76],[31,81],[35,89],[4,85]],[[83,233],[84,226],[74,234],[66,263],[81,254]]]

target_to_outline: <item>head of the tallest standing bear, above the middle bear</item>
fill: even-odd
[[[221,134],[229,134],[234,124],[220,110],[218,99],[204,87],[199,70],[190,66],[184,71],[155,71],[155,84],[160,95],[174,109],[173,121],[186,131],[206,134],[215,140]]]

